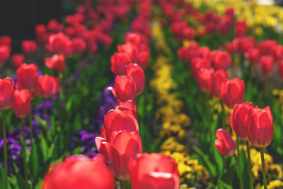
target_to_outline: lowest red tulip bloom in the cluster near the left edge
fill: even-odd
[[[30,115],[30,92],[27,89],[16,89],[13,92],[13,112],[18,118],[25,118]]]

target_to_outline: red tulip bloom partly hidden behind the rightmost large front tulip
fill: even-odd
[[[230,117],[230,126],[240,139],[248,140],[248,134],[246,131],[247,115],[250,108],[255,108],[253,103],[244,102],[241,104],[235,104],[233,107],[233,113]]]

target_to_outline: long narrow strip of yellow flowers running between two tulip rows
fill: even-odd
[[[171,50],[166,45],[161,26],[157,23],[151,28],[151,33],[156,40],[156,47],[160,52],[170,56]],[[156,91],[156,103],[159,108],[156,118],[161,120],[161,132],[158,142],[161,143],[161,154],[167,154],[178,163],[181,188],[187,188],[187,184],[195,181],[205,181],[209,178],[209,172],[198,164],[196,159],[191,159],[182,142],[186,141],[185,127],[190,125],[190,118],[182,113],[183,101],[177,98],[174,90],[176,84],[171,78],[173,67],[168,59],[159,55],[154,63],[154,79],[150,85]]]

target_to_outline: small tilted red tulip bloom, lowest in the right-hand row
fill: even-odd
[[[230,133],[223,129],[218,129],[215,132],[217,139],[214,141],[216,149],[220,154],[229,157],[236,152],[236,142],[233,141]]]

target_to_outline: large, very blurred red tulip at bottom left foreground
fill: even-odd
[[[50,166],[45,173],[42,189],[114,189],[115,180],[101,156],[89,159],[83,155],[67,157]]]

